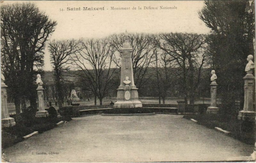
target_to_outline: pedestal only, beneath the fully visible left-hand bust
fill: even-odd
[[[47,117],[49,116],[48,111],[44,110],[44,89],[42,86],[37,87],[37,97],[38,97],[38,112],[36,112],[36,117]]]

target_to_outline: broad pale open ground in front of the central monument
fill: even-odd
[[[4,150],[10,162],[225,161],[254,146],[182,115],[85,116]]]

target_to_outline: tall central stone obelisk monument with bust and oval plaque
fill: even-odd
[[[132,71],[132,47],[129,43],[129,37],[125,34],[125,41],[121,49],[121,80],[117,89],[116,103],[114,108],[138,108],[142,107],[139,101],[138,88],[134,84]]]

